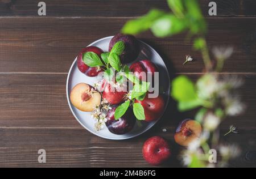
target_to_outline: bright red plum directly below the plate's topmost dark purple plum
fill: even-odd
[[[158,69],[154,63],[152,63],[148,59],[144,59],[142,61],[133,63],[130,66],[130,71],[132,71],[134,75],[137,76],[137,78],[146,82],[148,73],[152,75],[152,79],[153,79],[154,73],[158,72]]]

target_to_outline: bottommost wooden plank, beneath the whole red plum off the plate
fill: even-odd
[[[154,128],[155,129],[155,128]],[[224,134],[226,130],[221,130]],[[142,157],[143,142],[152,135],[168,140],[172,157],[160,167],[180,167],[177,154],[183,149],[174,142],[174,128],[150,130],[140,137],[117,141],[106,140],[84,129],[1,129],[0,167],[152,167]],[[256,130],[222,137],[238,143],[241,156],[230,167],[256,167],[245,154],[255,149]],[[38,150],[46,150],[46,163],[38,163]]]

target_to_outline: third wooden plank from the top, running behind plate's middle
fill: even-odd
[[[189,77],[196,80],[199,75]],[[224,127],[237,125],[242,129],[256,129],[256,76],[240,75],[245,84],[238,90],[247,105],[246,112],[226,120]],[[66,75],[0,74],[0,128],[70,128],[82,129],[69,110]],[[175,127],[184,118],[195,116],[195,111],[179,113],[171,101],[159,128]]]

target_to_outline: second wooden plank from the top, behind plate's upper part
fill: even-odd
[[[102,37],[115,35],[127,18],[1,18],[0,71],[67,73],[76,54]],[[226,61],[225,72],[255,73],[256,18],[210,18],[210,48],[233,45],[234,54]],[[150,32],[138,36],[153,46],[174,72],[203,70],[201,55],[184,40],[185,34],[158,39]],[[185,55],[195,61],[182,65]]]

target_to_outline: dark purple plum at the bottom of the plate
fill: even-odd
[[[133,110],[128,108],[121,118],[115,120],[114,114],[116,108],[117,106],[109,110],[108,115],[106,116],[108,120],[106,122],[106,126],[108,127],[109,131],[113,134],[126,134],[133,129],[136,122]]]

